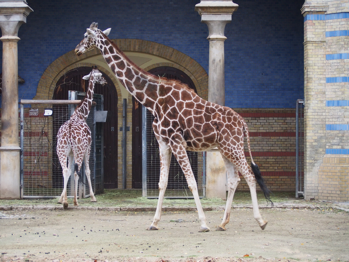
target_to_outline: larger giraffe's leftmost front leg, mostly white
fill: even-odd
[[[155,132],[155,131],[154,131]],[[148,227],[148,230],[158,230],[157,223],[161,219],[162,203],[164,201],[165,190],[169,178],[169,168],[171,162],[171,150],[168,145],[159,137],[156,136],[159,143],[160,153],[160,180],[159,180],[159,199],[157,201],[157,207],[153,223]]]

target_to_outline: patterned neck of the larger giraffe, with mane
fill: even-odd
[[[154,112],[161,79],[135,65],[118,46],[100,32],[96,46],[121,84],[141,104]]]

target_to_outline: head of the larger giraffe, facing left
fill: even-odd
[[[98,36],[102,36],[102,32],[104,35],[109,35],[111,28],[108,28],[104,31],[97,28],[98,23],[93,22],[90,28],[86,29],[86,33],[84,34],[84,39],[81,40],[80,44],[78,44],[75,48],[75,53],[80,56],[84,52],[94,48],[96,46]]]

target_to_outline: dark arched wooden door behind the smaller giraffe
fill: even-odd
[[[73,70],[70,70],[69,72],[64,74],[56,84],[53,92],[53,99],[67,100],[69,90],[86,92],[86,89],[88,87],[88,80],[83,80],[82,77],[88,75],[90,72],[91,67],[83,66],[74,68]],[[102,137],[96,137],[96,155],[103,153],[102,161],[96,162],[96,169],[101,169],[101,167],[103,167],[103,177],[102,175],[97,177],[96,174],[96,184],[102,184],[101,188],[96,187],[97,194],[103,192],[104,188],[118,187],[118,137],[116,132],[116,126],[118,124],[118,95],[113,81],[104,72],[101,73],[106,79],[107,84],[105,84],[104,86],[100,84],[95,85],[94,93],[103,95],[104,99],[103,109],[96,109],[108,111],[108,119],[105,123],[96,123],[96,133],[98,133],[97,130],[99,130],[99,133],[103,133],[104,139],[104,148],[98,148],[98,145],[102,145]],[[54,139],[56,139],[59,126],[61,126],[65,121],[65,119],[62,119],[61,121],[56,121],[55,123],[53,123]],[[58,126],[58,128],[55,126]],[[53,141],[53,143],[55,144],[56,141]],[[59,164],[59,161],[57,162],[58,158],[55,158],[57,158],[56,154],[53,155],[53,180],[58,181],[58,179],[55,178],[62,176],[62,168]],[[98,181],[98,179],[101,181]],[[55,186],[60,187],[60,185],[58,184],[56,184]]]

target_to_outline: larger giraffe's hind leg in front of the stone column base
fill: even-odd
[[[225,158],[223,155],[223,160],[225,164],[225,169],[227,169],[227,176],[228,176],[228,197],[227,197],[227,204],[225,205],[225,211],[222,223],[217,227],[216,231],[225,231],[225,225],[229,223],[230,219],[230,211],[231,211],[231,203],[233,201],[234,193],[236,190],[236,187],[238,186],[240,182],[240,177],[238,170],[234,166],[232,162],[230,162],[229,159]]]

